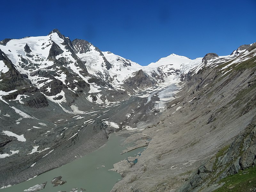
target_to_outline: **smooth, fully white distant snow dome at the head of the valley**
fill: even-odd
[[[172,64],[174,68],[179,68],[181,64],[191,61],[191,59],[180,56],[172,53],[171,55],[167,57],[163,57],[156,61],[155,63],[150,63],[148,66],[150,67],[159,67],[163,65],[170,65]]]

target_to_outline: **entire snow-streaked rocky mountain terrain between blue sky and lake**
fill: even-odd
[[[4,39],[0,187],[91,153],[111,132],[127,132],[127,140],[148,147],[136,164],[114,165],[123,179],[113,192],[256,190],[245,179],[239,186],[223,181],[255,169],[255,71],[256,43],[227,56],[171,54],[140,66],[57,29]]]

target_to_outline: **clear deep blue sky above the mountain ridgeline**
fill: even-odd
[[[171,53],[228,55],[256,42],[256,0],[2,1],[0,39],[53,28],[140,65]]]

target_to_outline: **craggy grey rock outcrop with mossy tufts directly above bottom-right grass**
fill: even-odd
[[[238,173],[241,169],[254,166],[256,156],[255,138],[256,119],[254,118],[254,121],[235,138],[230,147],[220,157],[212,158],[200,166],[176,192],[198,191],[200,188],[196,188],[199,186],[212,185],[228,175]],[[242,156],[240,156],[241,153]],[[206,178],[208,179],[206,180]],[[209,182],[209,178],[211,182]]]

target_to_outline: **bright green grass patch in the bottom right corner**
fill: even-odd
[[[220,180],[219,183],[225,184],[214,190],[214,192],[247,192],[256,188],[256,166],[244,169],[235,175]],[[254,190],[253,190],[254,191]]]

